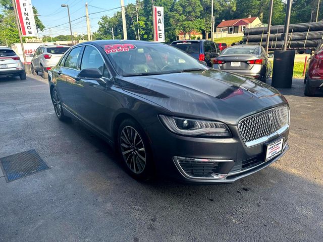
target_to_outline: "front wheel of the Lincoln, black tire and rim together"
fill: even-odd
[[[127,172],[137,180],[153,175],[153,160],[148,139],[133,119],[125,119],[118,130],[118,151]]]

